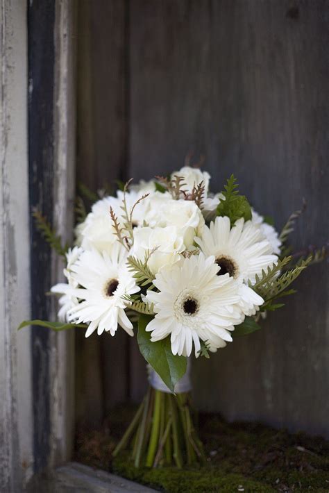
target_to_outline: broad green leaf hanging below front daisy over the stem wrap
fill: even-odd
[[[171,352],[170,338],[151,342],[151,334],[146,332],[146,325],[152,317],[141,315],[138,321],[137,342],[145,360],[162,378],[167,387],[174,393],[175,385],[186,371],[187,358],[174,356]]]

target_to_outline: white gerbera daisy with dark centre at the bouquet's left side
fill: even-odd
[[[124,295],[134,294],[140,290],[126,267],[127,252],[116,242],[112,249],[100,253],[96,250],[84,251],[78,261],[71,267],[72,276],[80,285],[73,294],[81,300],[69,310],[69,320],[89,324],[85,337],[97,328],[115,335],[117,325],[133,335],[133,324],[128,319],[125,308],[129,302]]]

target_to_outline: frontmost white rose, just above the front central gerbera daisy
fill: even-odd
[[[147,265],[156,274],[164,265],[174,265],[180,260],[180,253],[185,250],[183,236],[178,234],[177,228],[134,229],[134,244],[131,255],[144,261],[147,253],[151,253]]]

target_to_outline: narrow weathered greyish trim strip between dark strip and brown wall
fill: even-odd
[[[71,242],[74,226],[76,98],[75,2],[56,1],[54,67],[53,224]],[[62,260],[53,255],[53,283],[62,280]],[[56,303],[54,303],[56,304]],[[56,319],[57,306],[53,317]],[[74,331],[51,334],[52,466],[71,458],[74,440]]]

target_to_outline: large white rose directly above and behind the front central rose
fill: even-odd
[[[185,247],[192,247],[194,236],[202,233],[205,220],[194,201],[170,199],[162,203],[158,226],[176,226],[183,235]]]

